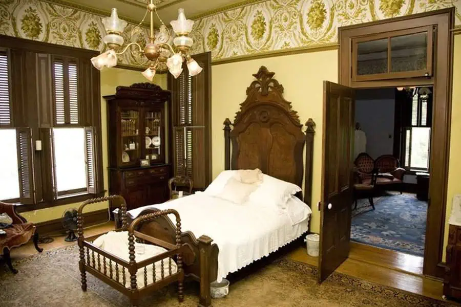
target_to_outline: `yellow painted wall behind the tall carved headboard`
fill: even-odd
[[[235,113],[246,98],[246,88],[255,80],[252,74],[261,65],[275,72],[284,87],[284,97],[298,112],[301,123],[312,118],[316,124],[313,163],[312,203],[320,200],[322,158],[323,80],[337,82],[338,51],[285,55],[212,67],[212,134],[213,177],[224,169],[224,132],[226,117],[234,121]],[[320,213],[312,210],[312,231],[319,231]]]

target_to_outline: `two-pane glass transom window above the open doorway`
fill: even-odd
[[[353,38],[352,80],[431,76],[432,44],[432,26]]]

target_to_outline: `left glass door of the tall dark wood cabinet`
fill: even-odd
[[[121,108],[121,165],[134,165],[139,163],[139,158],[141,157],[139,119],[140,113],[137,109]]]

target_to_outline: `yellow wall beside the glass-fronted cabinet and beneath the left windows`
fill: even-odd
[[[118,85],[131,85],[137,82],[145,82],[146,79],[141,72],[125,70],[118,68],[105,69],[101,71],[101,133],[102,133],[102,167],[104,177],[104,190],[108,190],[108,152],[107,152],[107,107],[106,100],[102,98],[105,95],[115,94],[115,88]],[[158,84],[162,89],[166,89],[166,74],[156,75],[153,83]],[[69,204],[46,209],[24,212],[22,215],[28,221],[40,223],[60,218],[62,213],[68,208],[78,208],[80,203]],[[107,203],[92,204],[86,207],[85,212],[95,211],[108,208]]]

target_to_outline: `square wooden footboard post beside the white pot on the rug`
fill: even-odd
[[[213,239],[202,235],[198,238],[199,259],[200,259],[200,300],[198,307],[212,307],[209,266],[212,252],[211,243]]]

